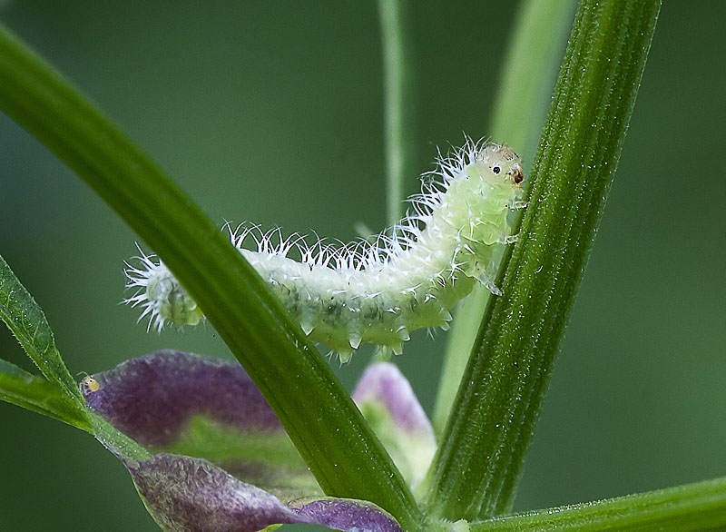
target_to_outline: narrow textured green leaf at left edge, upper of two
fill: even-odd
[[[55,347],[53,331],[45,320],[43,310],[18,281],[3,257],[0,257],[0,319],[5,321],[45,378],[57,383],[68,397],[83,405],[75,379]]]

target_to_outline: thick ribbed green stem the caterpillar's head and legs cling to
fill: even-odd
[[[511,507],[659,9],[659,0],[579,6],[520,239],[500,272],[504,295],[487,305],[427,476],[427,511],[435,517],[473,520]]]

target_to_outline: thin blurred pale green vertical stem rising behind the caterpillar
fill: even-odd
[[[416,174],[416,84],[410,67],[408,0],[378,0],[386,128],[386,215],[403,215],[404,183]]]

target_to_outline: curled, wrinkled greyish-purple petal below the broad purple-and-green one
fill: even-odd
[[[206,460],[159,454],[127,468],[152,517],[168,532],[255,532],[314,522]]]

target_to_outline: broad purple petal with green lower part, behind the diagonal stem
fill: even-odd
[[[143,446],[207,458],[286,500],[321,493],[236,362],[159,351],[84,379],[81,391],[91,409]]]

